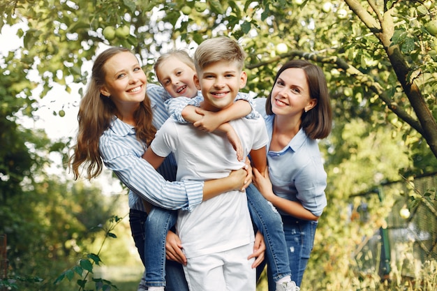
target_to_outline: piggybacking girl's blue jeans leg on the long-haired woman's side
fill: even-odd
[[[146,285],[165,286],[165,237],[175,225],[177,211],[153,207],[145,222]]]

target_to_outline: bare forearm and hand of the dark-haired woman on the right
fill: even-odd
[[[269,173],[266,169],[264,174],[261,174],[257,169],[253,169],[253,183],[260,191],[262,196],[277,209],[286,212],[296,218],[305,219],[307,221],[318,221],[319,216],[315,216],[311,211],[305,209],[301,203],[290,201],[283,197],[276,196],[273,193],[272,182],[269,179]]]

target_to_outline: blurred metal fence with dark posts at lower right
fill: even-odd
[[[367,238],[356,259],[360,271],[378,271],[383,279],[389,278],[393,268],[405,278],[415,278],[425,262],[437,260],[437,173],[386,183],[352,197],[363,197],[357,211],[365,217],[370,195],[378,195],[383,203],[392,193],[397,194],[385,218],[387,226]]]

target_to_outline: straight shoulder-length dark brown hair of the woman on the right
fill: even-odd
[[[284,64],[276,74],[274,84],[279,75],[288,68],[302,68],[308,82],[310,98],[317,100],[317,104],[308,112],[302,114],[301,128],[304,128],[306,135],[313,140],[325,138],[332,130],[332,109],[329,103],[329,93],[327,89],[325,75],[320,67],[311,64],[304,59],[293,59]],[[272,112],[272,91],[270,91],[265,103],[267,114]]]

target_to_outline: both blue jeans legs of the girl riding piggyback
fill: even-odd
[[[278,211],[267,202],[258,189],[252,184],[246,189],[249,213],[255,228],[264,236],[266,258],[272,270],[272,278],[278,281],[284,276],[290,276],[287,244],[283,232],[283,224]],[[175,211],[154,207],[147,217],[145,232],[146,241],[146,285],[165,285],[165,236],[175,224]]]

